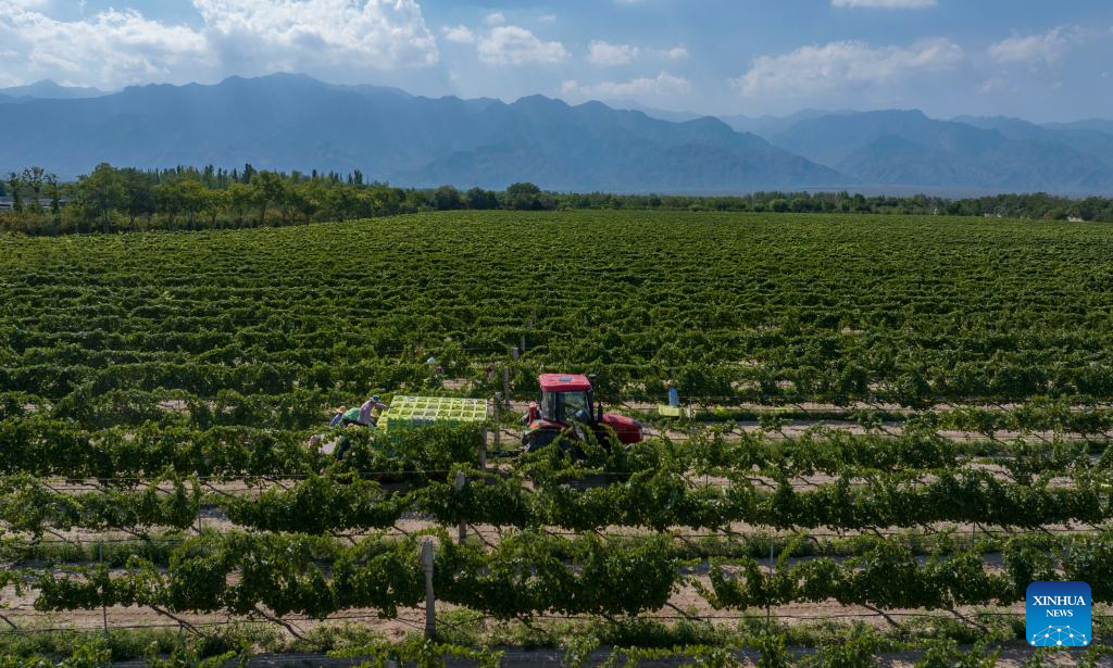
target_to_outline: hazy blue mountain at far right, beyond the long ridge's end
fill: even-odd
[[[859,183],[1113,192],[1113,143],[1011,119],[870,111],[805,119],[770,140]]]

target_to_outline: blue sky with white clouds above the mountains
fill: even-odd
[[[1110,0],[0,0],[0,87],[301,72],[747,116],[1113,117]]]

